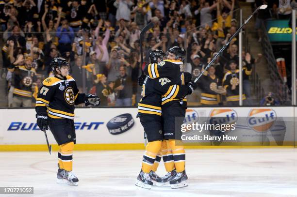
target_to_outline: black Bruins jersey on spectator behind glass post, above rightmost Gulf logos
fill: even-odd
[[[228,71],[223,78],[223,86],[227,91],[227,101],[239,101],[239,72],[239,69],[236,69],[234,73]],[[251,72],[251,64],[247,64],[247,66],[242,69],[243,78],[251,75]],[[236,86],[234,90],[232,90],[232,85]],[[246,99],[245,94],[243,94],[242,99]]]

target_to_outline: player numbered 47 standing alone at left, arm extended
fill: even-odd
[[[49,126],[59,145],[57,182],[77,186],[79,180],[72,172],[72,152],[76,142],[74,105],[98,106],[100,99],[95,94],[79,93],[74,78],[68,75],[69,63],[64,58],[54,58],[50,66],[54,77],[43,81],[36,99],[37,125],[42,131]]]

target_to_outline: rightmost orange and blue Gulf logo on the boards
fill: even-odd
[[[247,117],[247,125],[257,132],[267,132],[277,119],[273,109],[251,109]]]

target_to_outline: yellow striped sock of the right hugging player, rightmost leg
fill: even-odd
[[[185,169],[185,151],[183,146],[176,145],[176,140],[169,139],[169,147],[172,150],[176,171],[182,172]]]

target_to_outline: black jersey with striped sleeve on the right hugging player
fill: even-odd
[[[176,85],[185,85],[183,72],[184,67],[182,61],[165,60],[158,64],[148,64],[144,68],[144,73],[149,78],[166,77],[171,81],[172,84]],[[181,98],[173,98],[170,95],[170,93],[162,95],[162,105],[165,105],[168,102],[181,101]],[[182,102],[186,102],[185,97],[182,98]]]

